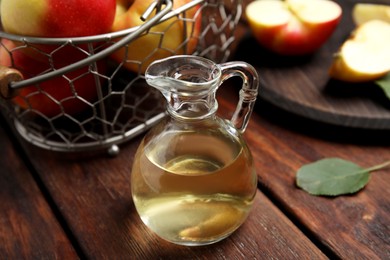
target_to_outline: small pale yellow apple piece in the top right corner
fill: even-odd
[[[356,25],[370,20],[390,23],[390,5],[358,3],[352,9],[352,18]]]

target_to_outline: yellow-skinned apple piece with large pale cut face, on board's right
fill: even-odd
[[[346,82],[366,82],[390,72],[390,23],[370,20],[358,26],[335,55],[329,75]]]

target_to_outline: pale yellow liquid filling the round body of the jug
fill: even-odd
[[[235,231],[256,192],[249,151],[228,137],[167,134],[137,151],[132,193],[143,222],[177,244],[204,245]]]

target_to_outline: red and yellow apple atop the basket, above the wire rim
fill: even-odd
[[[106,33],[116,11],[116,0],[2,0],[0,4],[4,31],[37,37]]]

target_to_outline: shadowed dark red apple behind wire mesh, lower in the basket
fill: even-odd
[[[17,46],[13,41],[8,39],[1,40],[0,65],[12,66],[18,69],[25,79],[34,77],[50,69],[49,62],[42,62],[39,59],[35,59],[31,56],[30,52],[25,51],[26,49],[14,49],[15,47]],[[7,50],[13,50],[12,58]],[[74,61],[82,58],[80,55],[73,55],[72,57]],[[67,62],[70,61],[70,59],[67,60]],[[58,68],[68,65],[67,62],[58,63]],[[105,71],[105,64],[99,62],[98,69],[99,71]],[[23,87],[17,91],[17,96],[12,99],[12,102],[22,109],[34,109],[49,118],[57,116],[62,112],[74,116],[88,107],[88,104],[81,101],[81,99],[88,102],[93,102],[97,99],[95,78],[87,72],[88,68],[80,68],[65,74],[68,79],[74,80],[72,86],[64,77],[56,77],[40,83],[40,88],[47,94],[38,92],[36,86]],[[77,92],[78,98],[75,98],[72,87]],[[57,102],[61,101],[63,110],[48,95],[58,100]]]

